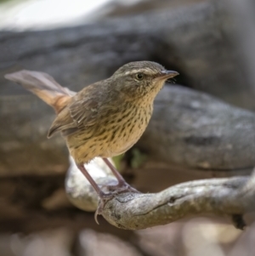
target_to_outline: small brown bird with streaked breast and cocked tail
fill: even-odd
[[[110,78],[95,82],[77,94],[42,72],[18,71],[5,77],[54,107],[57,117],[48,137],[61,132],[77,168],[104,203],[111,194],[100,190],[84,163],[96,156],[103,157],[118,180],[115,192],[132,190],[107,157],[122,154],[138,141],[150,121],[156,94],[167,79],[177,75],[178,72],[167,71],[155,62],[131,62]]]

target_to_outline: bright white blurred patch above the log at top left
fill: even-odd
[[[144,12],[173,9],[192,1],[1,1],[1,29],[14,31],[53,29],[94,23],[107,17],[120,17]]]

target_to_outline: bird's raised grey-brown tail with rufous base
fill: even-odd
[[[40,99],[51,105],[59,113],[71,100],[74,92],[63,88],[46,73],[37,71],[18,71],[4,76],[6,79],[20,83],[24,88],[36,94]]]

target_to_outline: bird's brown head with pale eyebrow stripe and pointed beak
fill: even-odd
[[[119,92],[130,100],[154,100],[167,79],[178,75],[176,71],[167,71],[162,65],[151,61],[136,61],[122,65],[111,77]]]

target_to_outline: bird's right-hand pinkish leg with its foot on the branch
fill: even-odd
[[[116,192],[135,192],[138,193],[136,189],[134,189],[131,185],[127,183],[127,181],[122,177],[122,174],[120,174],[116,168],[112,165],[112,163],[107,159],[103,158],[106,165],[111,169],[112,174],[116,177],[118,184],[117,185],[111,185],[109,186],[109,189],[114,189]]]

